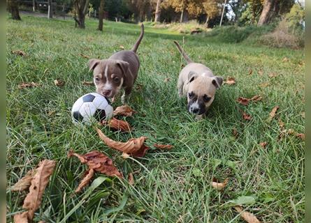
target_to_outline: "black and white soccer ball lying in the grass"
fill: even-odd
[[[98,93],[87,93],[75,101],[71,109],[73,123],[91,124],[113,116],[113,107],[108,99]]]

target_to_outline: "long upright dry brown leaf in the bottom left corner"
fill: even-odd
[[[54,160],[43,160],[38,164],[36,174],[31,180],[29,193],[24,199],[22,208],[28,210],[28,219],[34,218],[34,212],[40,207],[45,187],[48,185],[56,162]]]

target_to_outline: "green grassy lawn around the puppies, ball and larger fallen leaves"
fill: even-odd
[[[304,141],[294,135],[279,139],[285,129],[304,132],[304,52],[261,46],[225,44],[217,38],[185,36],[191,59],[209,66],[216,75],[235,77],[236,85],[223,85],[208,117],[196,121],[187,113],[186,99],[178,99],[176,83],[185,65],[173,40],[182,36],[166,29],[146,27],[138,49],[140,70],[130,105],[138,113],[126,118],[129,134],[102,128],[109,137],[126,141],[148,137],[151,147],[140,159],[127,159],[100,141],[94,128],[71,123],[71,106],[81,95],[94,92],[87,68],[90,58],[106,59],[130,49],[138,37],[136,24],[87,21],[87,29],[75,29],[73,21],[22,17],[7,21],[6,131],[7,221],[22,210],[26,192],[9,188],[45,158],[57,167],[45,190],[35,222],[243,222],[231,200],[254,197],[243,208],[262,222],[302,222],[304,195]],[[11,51],[22,50],[27,56]],[[287,58],[284,60],[284,58]],[[249,70],[252,74],[249,75]],[[276,77],[270,77],[275,73]],[[270,76],[269,76],[270,75]],[[65,86],[58,87],[54,79]],[[164,80],[169,78],[168,82]],[[21,82],[41,87],[17,88]],[[261,95],[263,100],[247,107],[238,97]],[[113,105],[121,105],[120,98]],[[280,106],[277,116],[269,113]],[[252,116],[244,121],[243,109]],[[232,134],[233,128],[238,136]],[[267,141],[266,148],[259,143]],[[172,144],[159,151],[154,143]],[[124,176],[133,173],[135,183],[108,178],[94,191],[80,194],[86,165],[66,157],[99,150],[112,158]],[[103,177],[96,174],[96,178]],[[212,178],[229,183],[221,192]]]

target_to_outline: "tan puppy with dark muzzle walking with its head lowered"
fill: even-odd
[[[212,74],[212,70],[202,63],[194,63],[174,41],[178,51],[187,61],[187,66],[180,71],[178,78],[178,94],[187,95],[190,113],[201,116],[208,111],[215,98],[216,89],[222,86],[222,77]]]

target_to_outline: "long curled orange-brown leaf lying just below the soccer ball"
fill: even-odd
[[[139,137],[135,139],[129,139],[129,141],[126,142],[121,142],[121,141],[114,141],[113,139],[106,137],[106,135],[103,134],[103,132],[101,132],[99,128],[96,128],[96,131],[99,134],[101,140],[103,140],[103,142],[107,146],[109,146],[110,148],[114,148],[117,151],[128,153],[133,157],[143,157],[147,152],[147,150],[149,149],[144,144],[147,137]]]

